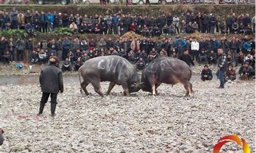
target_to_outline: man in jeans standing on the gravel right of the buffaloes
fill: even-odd
[[[217,77],[220,79],[220,86],[218,87],[219,89],[224,88],[225,84],[225,78],[224,78],[224,73],[227,70],[227,55],[223,53],[223,49],[219,48],[218,49],[218,71],[217,71]]]

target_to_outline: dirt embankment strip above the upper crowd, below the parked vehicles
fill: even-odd
[[[90,6],[62,6],[58,5],[0,5],[0,9],[11,10],[12,7],[16,7],[19,11],[57,11],[57,12],[67,12],[73,14],[88,14],[94,15],[99,14],[103,15],[106,13],[131,13],[131,14],[142,14],[149,16],[157,16],[163,13],[178,14],[186,12],[206,12],[206,13],[215,13],[215,15],[220,15],[221,17],[226,17],[227,14],[236,13],[249,13],[251,15],[255,14],[255,4],[243,4],[243,5],[152,5],[152,6],[99,6],[99,5],[90,5]]]

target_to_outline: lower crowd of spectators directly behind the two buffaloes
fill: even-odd
[[[55,55],[63,61],[62,70],[71,71],[72,69],[78,70],[88,59],[118,55],[135,64],[138,69],[143,69],[147,63],[163,56],[179,58],[189,66],[195,65],[195,61],[199,64],[215,65],[218,59],[218,48],[223,48],[229,65],[245,66],[244,62],[248,62],[249,66],[255,69],[255,40],[248,39],[247,35],[243,39],[232,37],[231,40],[227,40],[225,36],[220,40],[215,37],[201,36],[197,39],[178,36],[176,39],[119,37],[112,40],[112,38],[100,38],[99,41],[94,38],[86,40],[66,36],[58,40],[42,40],[37,44],[34,44],[31,37],[27,40],[22,38],[7,40],[2,37],[0,60],[5,63],[29,61],[34,64],[43,64],[48,61],[50,56]]]

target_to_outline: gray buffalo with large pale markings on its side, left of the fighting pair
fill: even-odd
[[[113,87],[121,85],[123,93],[129,96],[132,92],[140,90],[140,78],[136,68],[126,59],[119,56],[103,56],[92,58],[79,68],[78,70],[81,88],[86,95],[89,95],[86,87],[92,84],[95,92],[103,96],[101,92],[100,82],[110,81],[109,89],[106,95],[110,94]],[[83,78],[81,82],[80,75]]]

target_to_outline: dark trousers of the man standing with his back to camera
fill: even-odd
[[[55,114],[55,108],[57,104],[57,93],[46,93],[46,92],[42,93],[39,114],[42,114],[42,112],[44,111],[45,104],[47,103],[50,95],[51,95],[51,113]]]

